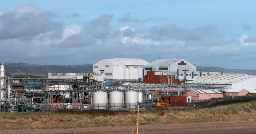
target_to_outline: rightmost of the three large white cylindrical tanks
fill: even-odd
[[[127,108],[136,108],[139,102],[139,93],[135,91],[125,92],[125,105]]]

